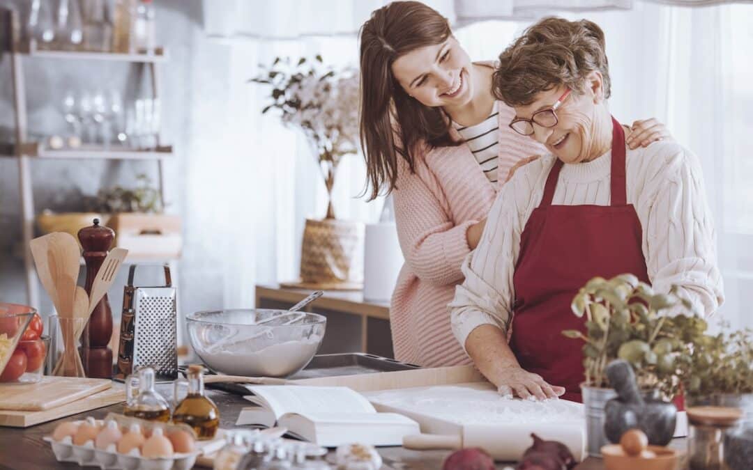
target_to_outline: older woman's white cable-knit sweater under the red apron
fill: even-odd
[[[463,347],[477,326],[507,329],[511,321],[520,235],[541,202],[554,159],[547,155],[523,166],[502,186],[477,249],[463,262],[465,282],[449,305],[453,333]],[[591,162],[563,165],[552,204],[608,205],[610,165],[611,151]],[[669,141],[626,148],[626,180],[654,290],[669,293],[677,284],[698,311],[712,314],[723,302],[722,280],[697,156]]]

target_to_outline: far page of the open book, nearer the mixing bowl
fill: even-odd
[[[245,397],[270,408],[276,418],[285,413],[376,413],[359,393],[347,387],[306,387],[303,385],[255,385],[248,390],[258,397]]]

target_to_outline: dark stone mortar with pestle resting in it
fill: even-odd
[[[648,444],[669,444],[675,433],[675,405],[655,395],[642,395],[633,368],[623,359],[610,362],[606,374],[617,392],[617,398],[609,400],[604,407],[604,432],[609,441],[616,444],[629,429],[640,429],[648,437]]]

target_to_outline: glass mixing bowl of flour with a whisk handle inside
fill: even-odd
[[[191,346],[213,371],[288,377],[306,367],[319,350],[327,318],[259,308],[200,311],[188,315],[186,323]]]

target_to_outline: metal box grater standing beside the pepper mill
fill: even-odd
[[[131,265],[128,271],[120,317],[115,374],[118,381],[124,381],[133,371],[145,366],[154,368],[157,381],[178,378],[175,287],[170,280],[170,268],[165,265],[164,269],[163,287],[135,287],[136,265]]]

